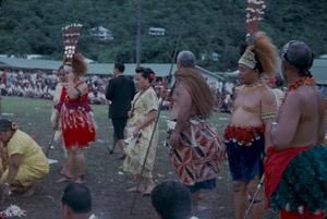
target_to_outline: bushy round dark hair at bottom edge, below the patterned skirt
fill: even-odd
[[[186,219],[191,216],[191,192],[179,182],[164,182],[152,192],[152,204],[162,219]]]

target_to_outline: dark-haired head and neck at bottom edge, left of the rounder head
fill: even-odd
[[[61,198],[63,219],[97,219],[92,214],[92,197],[86,185],[70,183]]]

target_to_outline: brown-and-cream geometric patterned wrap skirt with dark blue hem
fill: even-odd
[[[168,121],[168,139],[174,129]],[[170,147],[170,160],[181,183],[191,192],[214,188],[221,159],[221,143],[211,125],[202,119],[191,119],[180,134],[179,147]]]

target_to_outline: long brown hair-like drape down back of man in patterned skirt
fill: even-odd
[[[193,68],[182,68],[174,74],[177,82],[182,82],[191,88],[192,109],[202,118],[209,118],[215,99],[202,74]]]

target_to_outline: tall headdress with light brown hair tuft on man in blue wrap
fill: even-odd
[[[265,14],[264,0],[247,0],[246,8],[246,46],[242,51],[239,64],[257,69],[267,76],[274,76],[278,65],[278,50],[270,38],[258,32],[259,21]]]

